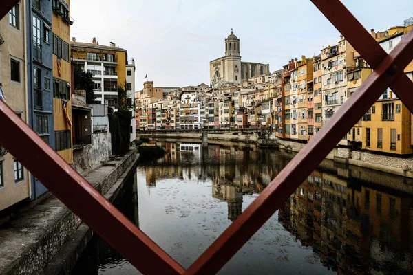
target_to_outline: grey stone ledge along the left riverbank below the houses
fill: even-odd
[[[107,192],[136,159],[129,151],[116,167],[101,167],[85,177],[99,192]],[[62,248],[81,219],[51,196],[0,229],[0,274],[40,274]]]

